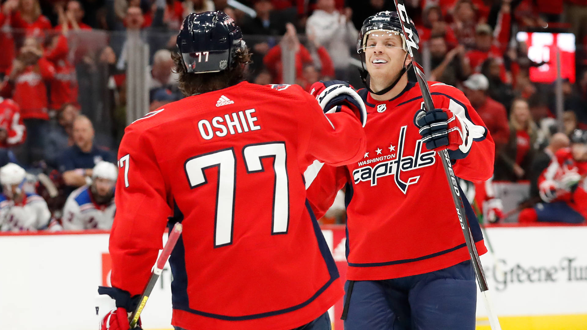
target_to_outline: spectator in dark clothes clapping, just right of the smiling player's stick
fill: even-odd
[[[463,60],[465,48],[458,45],[448,50],[443,35],[434,35],[430,38],[430,80],[457,86],[458,83],[467,79],[471,68],[467,61]]]

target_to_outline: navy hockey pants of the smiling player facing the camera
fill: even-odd
[[[345,284],[345,330],[474,330],[477,285],[471,261],[443,270]],[[345,306],[346,307],[346,306]]]

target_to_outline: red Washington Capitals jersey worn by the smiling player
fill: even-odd
[[[434,106],[470,122],[470,149],[449,151],[461,179],[482,181],[493,172],[494,143],[463,93],[429,82]],[[391,100],[367,105],[367,152],[346,166],[324,165],[307,190],[321,217],[346,185],[347,280],[384,280],[440,270],[468,260],[450,186],[436,151],[421,143],[414,115],[423,105],[420,88],[409,83]],[[479,254],[487,250],[477,219],[463,197]]]

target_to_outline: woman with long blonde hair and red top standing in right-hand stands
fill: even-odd
[[[515,99],[510,114],[510,139],[495,162],[495,180],[528,179],[535,154],[537,127],[532,121],[528,102]]]

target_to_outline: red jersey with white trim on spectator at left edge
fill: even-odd
[[[9,148],[22,144],[25,137],[21,109],[13,100],[0,97],[0,147]]]

